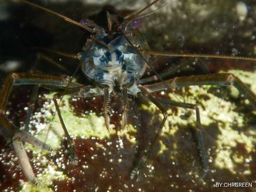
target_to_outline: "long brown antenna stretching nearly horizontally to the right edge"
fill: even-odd
[[[256,61],[256,58],[243,57],[243,56],[196,54],[196,53],[172,53],[168,51],[151,51],[151,50],[140,50],[140,51],[141,53],[147,53],[152,55],[162,55],[162,56],[169,56],[169,57],[199,57],[199,58],[238,59],[238,60],[246,60],[246,61]]]

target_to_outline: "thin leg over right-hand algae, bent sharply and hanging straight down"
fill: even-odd
[[[159,103],[162,103],[164,105],[169,105],[169,106],[174,106],[174,107],[182,107],[182,108],[189,108],[189,109],[194,109],[196,111],[196,136],[197,136],[197,147],[199,149],[199,155],[201,158],[201,163],[203,166],[203,173],[201,175],[201,179],[203,179],[207,171],[209,170],[209,165],[208,165],[208,158],[207,158],[207,153],[205,150],[205,145],[204,145],[204,138],[203,138],[203,129],[201,125],[201,120],[200,120],[200,113],[197,105],[190,104],[190,103],[183,103],[183,102],[176,102],[176,101],[171,101],[169,99],[157,99]]]

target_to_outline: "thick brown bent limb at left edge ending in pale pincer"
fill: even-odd
[[[39,141],[29,133],[19,130],[5,116],[6,103],[8,102],[10,92],[13,85],[51,85],[57,87],[63,87],[67,82],[60,77],[53,77],[39,74],[11,74],[5,78],[4,85],[0,92],[0,131],[7,140],[12,140],[13,148],[19,158],[21,169],[25,173],[28,180],[33,181],[35,175],[29,163],[29,159],[26,155],[26,151],[20,140],[30,143],[37,148],[51,151],[51,148],[44,142]],[[80,84],[70,83],[70,87],[81,87]]]

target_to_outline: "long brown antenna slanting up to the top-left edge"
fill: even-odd
[[[83,29],[89,31],[91,34],[94,34],[93,29],[91,29],[90,27],[84,26],[84,25],[82,25],[81,23],[79,23],[79,22],[77,22],[77,21],[74,21],[74,20],[72,20],[72,19],[66,17],[65,15],[62,15],[62,14],[57,13],[57,12],[55,12],[55,11],[49,10],[49,9],[43,7],[43,6],[40,6],[40,5],[31,3],[31,2],[28,2],[28,1],[26,1],[26,0],[19,0],[19,1],[21,1],[21,2],[23,2],[23,3],[26,3],[26,4],[30,5],[30,6],[36,7],[36,8],[38,8],[38,9],[44,10],[44,11],[46,11],[46,12],[48,12],[48,13],[54,14],[54,15],[56,15],[56,16],[58,16],[58,17],[64,19],[65,21],[67,21],[67,22],[69,22],[69,23],[72,23],[73,25],[76,25],[76,26],[78,26],[78,27],[81,27],[81,28],[83,28]]]

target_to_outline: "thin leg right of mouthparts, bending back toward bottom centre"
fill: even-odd
[[[150,154],[152,153],[153,148],[156,145],[158,137],[161,134],[164,123],[165,123],[165,121],[167,119],[167,116],[168,116],[166,109],[163,107],[163,105],[161,103],[159,103],[144,87],[140,86],[139,88],[141,90],[140,96],[143,97],[143,98],[146,98],[146,99],[148,98],[151,102],[153,102],[161,110],[161,112],[163,113],[164,118],[162,120],[161,125],[157,129],[157,133],[155,135],[155,138],[151,142],[151,145],[150,145],[147,153],[142,156],[139,163],[133,168],[133,170],[131,172],[131,179],[137,177],[137,181],[140,179],[139,178],[140,177],[140,171],[143,169],[143,167],[145,167],[146,162],[147,162]]]

